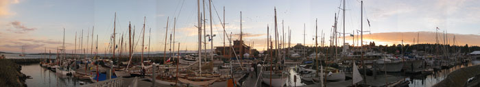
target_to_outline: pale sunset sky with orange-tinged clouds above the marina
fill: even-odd
[[[480,1],[477,0],[365,0],[363,9],[359,0],[346,0],[345,13],[339,9],[344,8],[343,0],[213,0],[212,18],[208,0],[204,2],[205,6],[202,3],[203,0],[200,1],[200,11],[202,15],[206,14],[206,32],[210,34],[210,26],[213,25],[213,34],[216,35],[213,37],[214,47],[223,46],[224,34],[220,21],[223,22],[225,17],[226,32],[232,35],[232,40],[239,39],[242,23],[245,44],[265,50],[267,26],[270,34],[274,29],[274,9],[278,33],[288,36],[291,29],[292,46],[303,42],[314,45],[315,20],[317,36],[322,36],[323,31],[327,45],[333,34],[335,14],[339,16],[337,31],[340,33],[344,32],[344,28],[350,34],[361,29],[363,18],[363,43],[375,41],[377,45],[392,45],[404,40],[404,44],[414,44],[414,38],[420,38],[420,43],[435,43],[435,32],[441,35],[440,40],[443,40],[443,32],[447,32],[446,39],[450,44],[480,45]],[[0,0],[0,51],[20,53],[23,47],[25,53],[40,53],[45,49],[54,53],[58,47],[62,47],[64,40],[67,53],[73,52],[75,45],[78,53],[80,47],[91,49],[93,46],[95,49],[98,36],[99,53],[104,53],[108,45],[113,44],[110,37],[114,27],[116,44],[119,44],[122,35],[123,41],[128,40],[130,23],[135,30],[135,51],[141,52],[141,48],[145,48],[141,47],[144,18],[144,46],[150,47],[150,51],[173,48],[170,47],[173,44],[169,44],[170,35],[167,35],[165,45],[167,21],[168,34],[173,34],[175,27],[175,50],[179,49],[179,42],[180,50],[197,49],[195,0]],[[355,37],[357,35],[355,32]],[[346,34],[346,42],[350,45],[354,43],[351,38]],[[339,37],[338,42],[342,40]],[[207,44],[209,49],[211,42]]]

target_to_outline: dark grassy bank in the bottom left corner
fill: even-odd
[[[21,71],[21,66],[10,60],[0,60],[0,86],[24,87],[27,76]]]

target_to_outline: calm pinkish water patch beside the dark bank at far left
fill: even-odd
[[[29,87],[72,87],[80,86],[81,82],[74,77],[51,72],[40,64],[22,65],[21,72],[33,77],[25,81]]]

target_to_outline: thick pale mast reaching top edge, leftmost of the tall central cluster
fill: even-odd
[[[198,67],[200,69],[200,75],[202,75],[202,69],[200,67],[202,67],[202,24],[200,23],[200,20],[202,20],[200,18],[200,0],[197,0],[197,18],[198,18],[198,58],[199,58],[199,62],[198,62]],[[165,37],[167,34],[165,34]],[[166,43],[165,43],[166,44]],[[164,59],[165,60],[165,59]]]

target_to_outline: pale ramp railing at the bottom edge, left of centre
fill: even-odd
[[[123,86],[123,77],[117,77],[115,79],[107,79],[105,81],[87,84],[82,87],[121,87]]]

